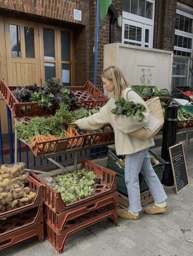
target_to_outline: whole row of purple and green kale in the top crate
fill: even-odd
[[[59,78],[48,79],[39,88],[36,84],[17,87],[13,91],[19,102],[37,102],[40,107],[52,107],[54,103],[64,103],[70,110],[72,106],[81,107],[81,102],[70,89],[64,87]]]

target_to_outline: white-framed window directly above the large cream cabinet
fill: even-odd
[[[154,0],[123,0],[122,43],[153,46]]]

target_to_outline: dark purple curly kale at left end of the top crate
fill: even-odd
[[[33,92],[38,92],[39,88],[37,85],[26,85],[25,87],[18,86],[14,91],[13,95],[19,102],[30,102],[30,98]]]

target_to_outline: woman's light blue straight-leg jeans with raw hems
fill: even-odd
[[[133,212],[142,210],[138,178],[140,172],[145,178],[155,203],[162,203],[167,199],[162,184],[151,165],[148,149],[125,155],[125,184],[129,196],[129,210]]]

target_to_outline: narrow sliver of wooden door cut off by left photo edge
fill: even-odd
[[[7,83],[7,63],[6,63],[6,52],[5,52],[5,37],[4,37],[4,21],[3,17],[0,17],[0,78],[3,78]],[[0,98],[2,96],[0,95]],[[1,117],[1,129],[2,133],[7,133],[7,106],[4,100],[0,100],[0,117]]]

